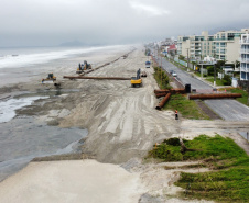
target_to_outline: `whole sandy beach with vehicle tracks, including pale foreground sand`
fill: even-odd
[[[182,170],[165,170],[169,163],[144,162],[143,157],[155,143],[170,137],[193,138],[199,134],[219,133],[237,137],[237,143],[242,144],[243,139],[235,128],[243,124],[199,121],[196,128],[195,121],[174,120],[173,111],[156,111],[158,99],[153,90],[158,84],[153,69],[144,67],[148,57],[142,46],[127,58],[121,57],[130,50],[128,47],[109,56],[95,56],[95,67],[118,60],[88,76],[129,78],[141,68],[148,74],[143,87],[131,88],[129,80],[67,80],[63,76],[76,76],[76,70],[62,67],[54,70],[61,83],[59,91],[76,91],[37,100],[17,111],[19,116],[29,115],[52,126],[87,129],[88,135],[80,145],[80,160],[31,162],[3,180],[0,183],[1,202],[208,202],[178,199],[177,192],[182,189],[173,183]],[[41,84],[35,78],[31,82],[1,88],[0,92],[2,97],[12,97],[24,90],[58,91],[53,84]],[[170,165],[177,167],[190,162]]]

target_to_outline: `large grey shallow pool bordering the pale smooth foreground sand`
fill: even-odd
[[[59,128],[15,117],[0,123],[0,181],[25,167],[33,158],[77,153],[87,129]]]

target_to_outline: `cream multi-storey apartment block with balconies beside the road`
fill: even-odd
[[[235,64],[239,60],[240,36],[248,33],[248,29],[242,29],[220,31],[214,35],[208,35],[208,32],[204,31],[202,35],[178,36],[177,53],[188,56],[190,60],[201,60],[212,56],[218,60],[226,60],[226,64]]]

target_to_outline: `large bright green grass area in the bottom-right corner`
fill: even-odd
[[[181,173],[175,183],[185,189],[182,195],[220,202],[249,202],[249,157],[230,138],[219,135],[201,135],[193,140],[184,140],[190,149],[197,151],[180,153],[177,138],[164,140],[148,157],[164,161],[203,160],[216,171],[203,173]],[[186,193],[187,192],[187,193]]]

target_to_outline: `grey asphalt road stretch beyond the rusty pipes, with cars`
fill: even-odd
[[[203,82],[203,81],[190,76],[188,74],[186,74],[185,71],[183,71],[182,69],[180,69],[175,65],[171,64],[170,61],[165,60],[164,58],[162,59],[162,67],[167,72],[170,72],[170,70],[174,70],[177,74],[177,79],[183,84],[191,83],[192,89],[205,89],[205,90],[206,89],[209,89],[209,90],[213,89],[207,83],[205,83],[205,82]]]

